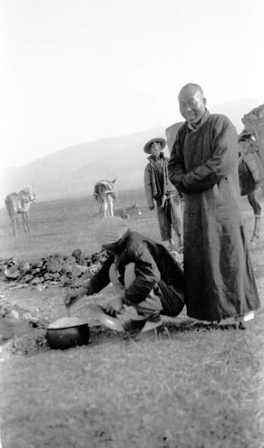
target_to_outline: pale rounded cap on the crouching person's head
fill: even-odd
[[[127,232],[127,223],[117,216],[107,216],[102,219],[95,229],[95,238],[101,246],[117,243],[125,232]]]

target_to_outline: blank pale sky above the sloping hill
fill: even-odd
[[[188,82],[264,102],[263,0],[0,1],[2,166],[171,125]]]

